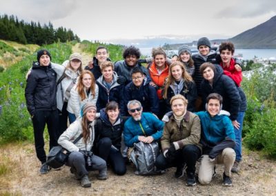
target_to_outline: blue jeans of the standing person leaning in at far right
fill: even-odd
[[[235,140],[236,140],[236,146],[235,146],[235,153],[236,153],[236,161],[242,160],[242,127],[244,123],[244,113],[245,112],[238,112],[237,115],[237,122],[239,123],[239,129],[234,128],[235,131]]]

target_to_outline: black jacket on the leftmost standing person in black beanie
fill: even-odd
[[[25,98],[30,115],[35,110],[57,109],[57,74],[49,66],[40,66],[38,62],[32,63],[32,72],[28,76],[25,88]]]

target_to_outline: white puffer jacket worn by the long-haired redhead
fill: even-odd
[[[83,90],[85,89],[83,88]],[[86,95],[86,92],[85,92],[85,95]],[[92,104],[95,104],[96,106],[98,95],[99,95],[99,87],[97,84],[95,84],[95,96],[93,96],[92,93],[90,92],[88,97],[86,95],[86,99],[83,99],[81,101],[81,96],[79,96],[79,93],[77,92],[77,85],[75,85],[70,91],[70,98],[68,100],[67,111],[72,114],[75,114],[77,118],[80,117],[81,108],[83,107],[84,104],[90,102]]]

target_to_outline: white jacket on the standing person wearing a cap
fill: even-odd
[[[63,75],[63,72],[66,69],[66,66],[68,65],[68,63],[69,63],[68,60],[64,61],[62,65],[59,65],[57,63],[52,63],[52,69],[55,70],[55,72],[57,73],[57,81]],[[62,79],[59,85],[57,86],[57,108],[60,111],[62,110],[64,99],[66,98],[67,88],[70,86],[72,82],[73,84],[77,83],[77,78],[81,73],[79,71],[74,72],[71,69],[67,69],[65,71],[65,74],[66,74],[66,77]]]

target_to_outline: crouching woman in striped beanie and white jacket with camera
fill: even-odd
[[[70,151],[66,166],[70,166],[70,172],[75,174],[77,179],[81,179],[81,186],[83,187],[91,186],[88,170],[99,170],[98,179],[108,178],[106,161],[97,155],[93,155],[91,151],[95,140],[96,112],[95,104],[85,104],[82,108],[83,117],[70,124],[58,140],[59,145]],[[79,135],[82,135],[81,139],[73,144],[73,141]]]

